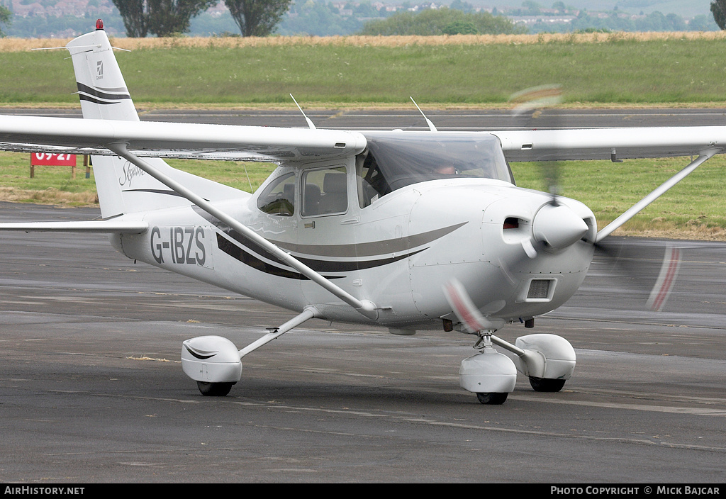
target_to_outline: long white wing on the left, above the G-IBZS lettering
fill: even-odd
[[[107,144],[125,143],[140,157],[229,157],[285,162],[358,154],[360,133],[309,128],[0,116],[0,147],[34,152],[63,149],[110,154]],[[174,154],[178,152],[179,154]]]

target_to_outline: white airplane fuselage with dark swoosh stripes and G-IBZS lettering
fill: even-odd
[[[298,209],[306,202],[298,187],[317,172],[344,176],[346,199],[333,213]],[[270,196],[266,187],[276,181],[293,186],[287,189],[292,207],[267,213],[261,197]],[[552,202],[548,194],[487,178],[444,178],[396,189],[361,207],[358,183],[353,162],[281,167],[255,194],[219,207],[355,297],[375,303],[376,319],[195,207],[147,212],[149,231],[116,236],[116,247],[130,258],[282,308],[313,305],[331,321],[411,332],[441,329],[442,319],[456,322],[443,294],[450,279],[468,289],[498,329],[562,305],[590,266],[592,244],[584,241],[561,249],[535,241],[537,255],[526,254],[523,240],[533,238],[535,216]],[[592,241],[592,211],[561,197],[558,205],[586,221],[582,239]]]

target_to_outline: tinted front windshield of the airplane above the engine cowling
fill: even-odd
[[[359,161],[361,207],[412,183],[440,178],[495,178],[513,183],[499,139],[470,133],[365,133]]]

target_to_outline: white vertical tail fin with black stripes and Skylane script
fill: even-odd
[[[66,48],[73,59],[83,118],[139,121],[106,32],[97,28],[71,40]],[[159,158],[147,161],[205,199],[229,199],[241,194],[237,189],[175,170]],[[121,157],[94,156],[92,163],[104,218],[190,204]]]

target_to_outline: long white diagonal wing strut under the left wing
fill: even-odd
[[[194,203],[213,217],[219,218],[219,220],[226,223],[229,227],[233,228],[235,231],[245,236],[251,242],[258,244],[259,246],[264,248],[267,252],[269,252],[270,255],[279,258],[283,263],[290,265],[290,267],[303,274],[303,276],[306,276],[311,281],[314,281],[316,284],[324,287],[329,292],[333,293],[336,297],[340,298],[340,300],[343,300],[343,302],[351,305],[351,307],[358,310],[360,313],[362,313],[362,315],[371,319],[378,318],[378,311],[376,310],[375,304],[373,302],[371,302],[370,300],[358,300],[352,294],[346,292],[346,290],[341,289],[339,286],[336,286],[332,282],[328,281],[327,279],[325,279],[325,277],[321,276],[319,273],[309,268],[304,263],[301,263],[289,253],[283,251],[275,244],[272,244],[267,239],[257,234],[252,229],[248,228],[231,216],[227,215],[227,213],[224,213],[224,211],[219,210],[219,208],[215,207],[211,202],[206,201],[205,199],[203,199],[203,197],[197,196],[197,194],[182,186],[181,183],[175,181],[172,178],[169,178],[160,171],[156,170],[154,167],[152,167],[152,165],[145,162],[140,157],[136,156],[136,154],[129,152],[129,150],[126,149],[125,143],[116,142],[114,144],[107,144],[106,147],[108,147],[108,149],[110,149],[111,151],[115,152],[115,154],[123,157],[125,160],[129,160],[131,163],[144,170],[144,172],[148,173],[150,176],[156,178],[158,181],[166,185],[169,189],[176,192],[176,194],[179,194],[180,196],[189,199],[189,202]]]

